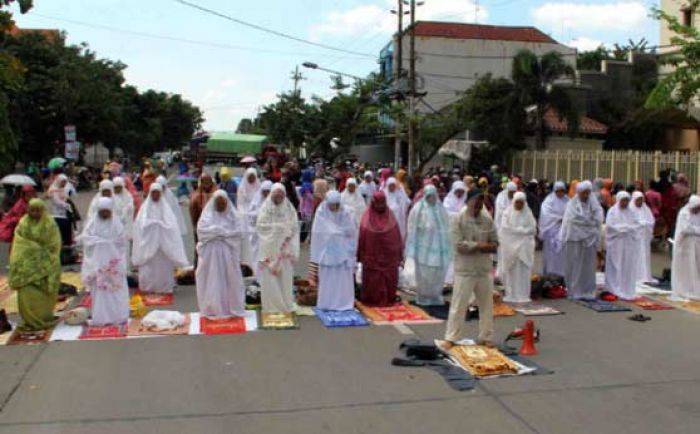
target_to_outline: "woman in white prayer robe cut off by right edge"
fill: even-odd
[[[672,300],[700,300],[700,196],[695,194],[676,220],[671,288]]]

